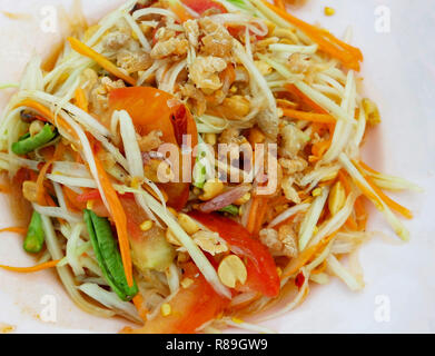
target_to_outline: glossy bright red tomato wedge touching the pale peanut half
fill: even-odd
[[[280,280],[275,260],[261,243],[250,237],[247,229],[218,214],[191,211],[189,215],[211,231],[218,233],[227,241],[231,253],[247,258],[246,287],[267,297],[276,297],[279,294]]]

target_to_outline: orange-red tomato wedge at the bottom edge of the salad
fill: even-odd
[[[125,329],[131,334],[194,334],[205,323],[215,319],[228,305],[229,300],[219,296],[207,283],[196,266],[185,267],[184,277],[194,283],[188,288],[180,288],[168,301],[170,314],[147,320],[142,328]]]

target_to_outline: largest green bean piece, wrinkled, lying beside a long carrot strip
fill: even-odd
[[[131,300],[138,293],[138,287],[136,283],[132,287],[128,286],[122,259],[111,233],[109,220],[97,216],[91,210],[85,210],[85,221],[93,251],[107,283],[119,298],[126,301]]]

